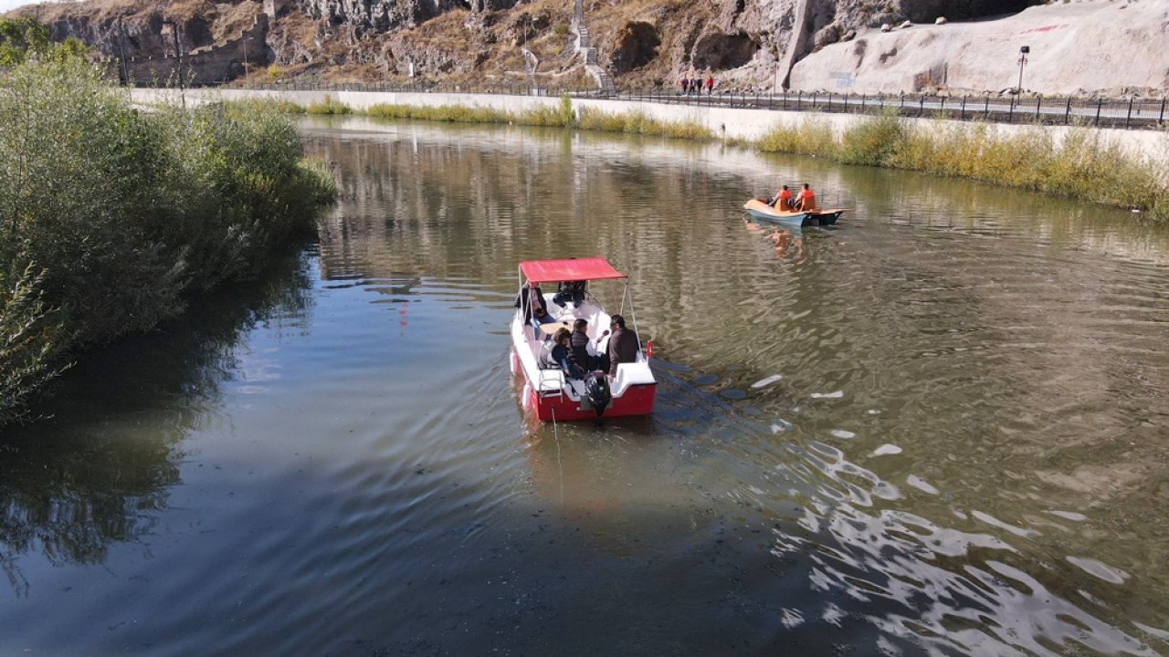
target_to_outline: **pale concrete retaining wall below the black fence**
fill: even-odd
[[[133,89],[131,95],[136,102],[151,104],[174,99],[174,92],[158,89]],[[188,89],[187,102],[219,102],[244,98],[278,98],[300,105],[319,103],[326,96],[344,103],[354,110],[366,110],[371,105],[417,105],[436,108],[444,105],[463,105],[521,112],[537,108],[560,108],[560,98],[552,96],[502,96],[492,94],[427,94],[397,91],[276,91],[249,89]],[[863,115],[831,115],[812,112],[794,112],[776,110],[749,110],[736,108],[719,108],[710,105],[665,105],[659,103],[638,103],[630,101],[603,101],[592,98],[573,98],[573,106],[592,108],[602,112],[624,113],[638,111],[645,116],[663,122],[687,122],[703,125],[715,136],[726,139],[758,139],[769,130],[783,126],[798,126],[810,117],[828,123],[839,137],[850,126],[865,120]],[[968,125],[962,122],[939,119],[905,119],[927,130],[943,130],[953,125]],[[1026,125],[995,124],[1004,136],[1031,130]],[[1057,144],[1072,130],[1065,126],[1051,126]],[[1118,144],[1134,159],[1147,159],[1169,168],[1169,133],[1150,130],[1097,130],[1106,143]]]

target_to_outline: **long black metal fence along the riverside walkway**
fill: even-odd
[[[380,91],[433,94],[496,94],[606,98],[672,105],[745,108],[758,110],[812,111],[826,113],[880,113],[895,111],[904,117],[1044,125],[1088,125],[1121,129],[1162,129],[1169,119],[1165,98],[1073,98],[1066,96],[941,96],[926,94],[864,95],[828,92],[718,91],[682,94],[664,89],[604,92],[600,89],[531,87],[526,84],[312,84],[274,82],[249,84],[248,89],[284,91]]]

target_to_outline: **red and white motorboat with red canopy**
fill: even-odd
[[[559,367],[542,369],[540,354],[545,338],[551,339],[558,330],[573,330],[576,319],[588,321],[587,333],[599,353],[606,353],[609,340],[610,314],[589,289],[597,281],[615,281],[622,284],[621,304],[617,313],[627,319],[627,330],[637,332],[632,299],[629,296],[629,277],[613,268],[604,258],[569,258],[525,261],[519,263],[519,292],[516,316],[511,323],[512,374],[521,376],[523,404],[544,422],[566,420],[597,421],[601,417],[625,415],[649,415],[653,410],[657,381],[650,371],[650,354],[638,341],[637,357],[632,362],[621,362],[614,376],[590,372],[583,379],[566,376]],[[569,284],[575,293],[545,292],[559,290],[561,283]],[[533,293],[538,291],[538,293]],[[552,321],[537,325],[531,320],[532,304],[539,300],[552,316]]]

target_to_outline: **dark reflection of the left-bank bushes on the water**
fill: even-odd
[[[241,338],[257,324],[303,325],[310,290],[304,255],[282,258],[146,336],[87,352],[33,409],[41,420],[0,434],[0,568],[18,596],[29,587],[20,554],[101,563],[110,544],[151,534],[184,438],[217,416]]]

